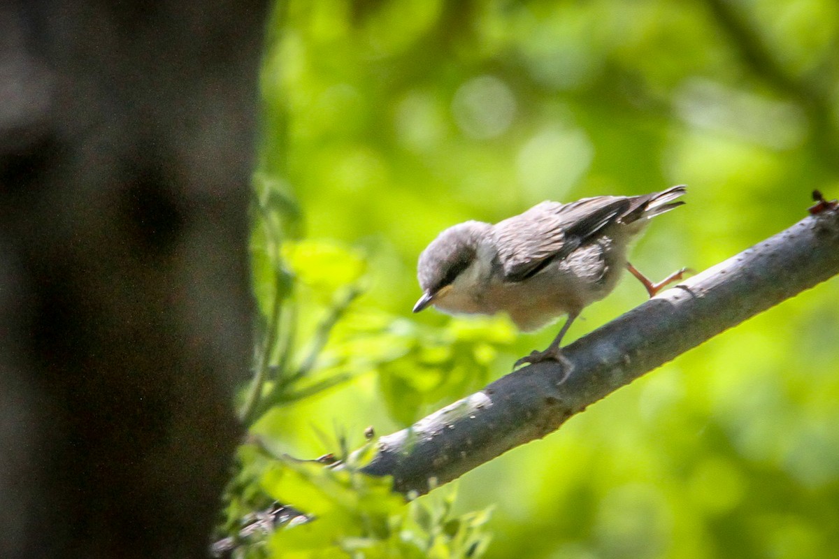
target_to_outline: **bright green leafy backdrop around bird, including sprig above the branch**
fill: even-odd
[[[559,325],[411,315],[417,256],[449,225],[688,184],[631,253],[658,278],[839,194],[832,0],[291,0],[268,36],[253,261],[270,397],[249,417],[275,454],[356,448],[550,342]],[[645,298],[624,278],[566,342]],[[473,555],[836,556],[837,303],[826,282],[466,474],[452,514],[493,507]],[[242,479],[287,499],[248,456]]]

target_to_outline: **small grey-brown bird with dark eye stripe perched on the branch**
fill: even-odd
[[[652,298],[687,268],[651,282],[627,259],[628,245],[656,215],[684,204],[684,184],[639,196],[545,201],[492,225],[470,220],[443,230],[420,254],[422,296],[414,313],[433,306],[448,314],[507,313],[530,332],[567,315],[544,351],[515,367],[562,361],[562,339],[590,303],[605,298],[627,269]]]

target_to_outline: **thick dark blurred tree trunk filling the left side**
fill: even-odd
[[[0,6],[0,556],[206,556],[265,13]]]

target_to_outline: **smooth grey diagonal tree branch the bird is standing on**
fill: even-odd
[[[565,348],[412,427],[380,437],[362,471],[420,494],[569,417],[724,330],[839,273],[839,212],[818,215],[691,277]]]

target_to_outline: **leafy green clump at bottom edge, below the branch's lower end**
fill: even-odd
[[[333,443],[344,448],[343,442]],[[251,559],[282,557],[369,557],[371,559],[477,559],[487,549],[484,525],[489,510],[456,514],[454,491],[441,489],[434,495],[406,503],[393,492],[393,480],[357,472],[373,451],[368,442],[355,453],[343,449],[343,458],[300,460],[284,454],[274,456],[260,443],[243,445],[237,479],[228,489],[226,533],[242,526],[248,506],[266,502],[305,505],[305,513],[291,515],[267,535],[242,538],[235,556]],[[248,505],[249,503],[249,505]],[[239,515],[239,516],[237,516]],[[251,519],[253,520],[253,519]],[[269,536],[266,538],[266,536]]]

